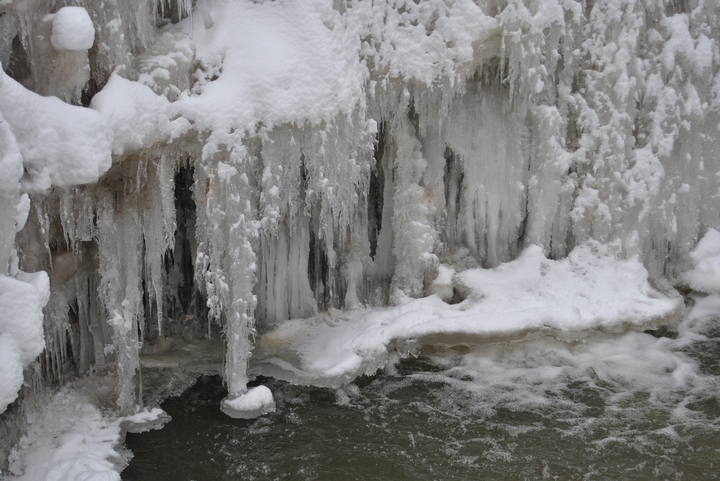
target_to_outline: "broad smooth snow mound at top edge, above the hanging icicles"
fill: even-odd
[[[214,0],[205,7],[183,30],[211,78],[200,78],[177,102],[199,131],[317,123],[352,111],[364,98],[360,39],[330,2]]]

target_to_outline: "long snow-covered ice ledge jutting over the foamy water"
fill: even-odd
[[[455,289],[466,297],[456,305],[432,295],[387,309],[287,321],[258,339],[251,372],[338,387],[374,373],[395,350],[541,335],[572,340],[678,317],[680,296],[658,292],[640,262],[620,260],[615,250],[591,242],[553,261],[530,246],[495,269],[456,274]]]

